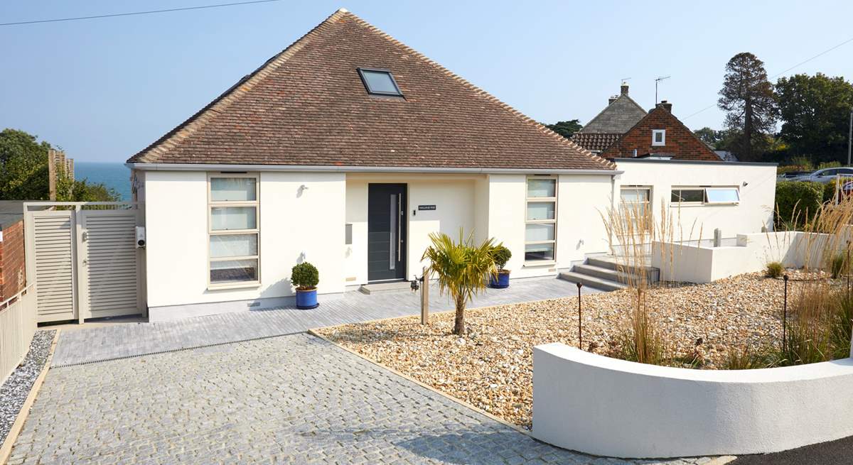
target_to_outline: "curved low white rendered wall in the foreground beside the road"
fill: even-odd
[[[533,436],[601,456],[757,454],[853,435],[853,359],[689,370],[533,348]]]

